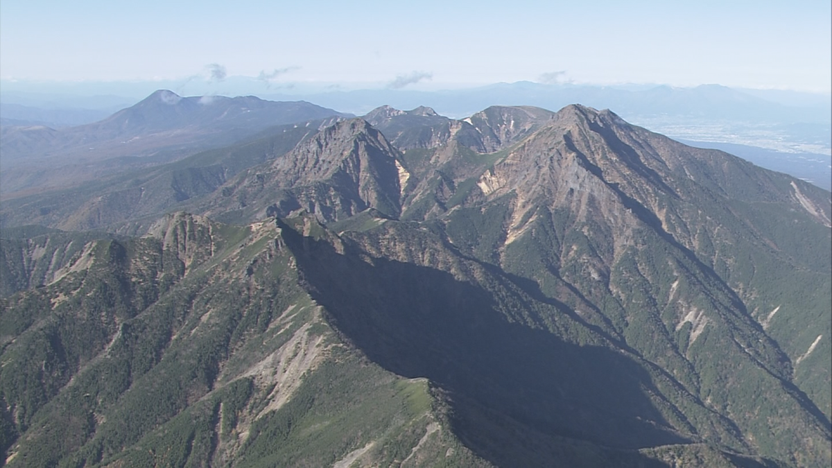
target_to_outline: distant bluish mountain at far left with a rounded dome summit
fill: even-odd
[[[68,187],[228,145],[267,127],[343,115],[308,102],[180,97],[160,90],[100,122],[59,130],[2,127],[0,190],[10,197]]]

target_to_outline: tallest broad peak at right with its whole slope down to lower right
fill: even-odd
[[[510,142],[498,152],[465,152],[453,142],[434,148],[423,170],[414,171],[418,184],[405,193],[403,217],[439,223],[465,255],[532,280],[543,296],[571,305],[607,336],[679,370],[681,386],[700,395],[707,411],[721,408],[745,428],[745,441],[730,444],[772,456],[800,445],[789,436],[763,448],[755,419],[726,409],[747,405],[742,395],[765,374],[794,379],[813,401],[792,401],[793,412],[772,424],[800,426],[815,441],[828,437],[829,416],[807,415],[829,415],[832,408],[821,391],[821,382],[830,381],[829,359],[818,353],[830,316],[816,301],[830,294],[829,192],[724,152],[686,147],[610,111],[573,105],[545,122],[524,122],[518,112],[492,109],[471,118],[478,128],[494,129],[483,142],[493,148]],[[801,233],[785,226],[800,226]],[[448,270],[437,254],[419,252],[414,258]],[[791,286],[780,295],[775,284]],[[785,302],[790,318],[780,316]],[[772,325],[777,319],[779,328]],[[785,325],[789,320],[805,325]],[[726,366],[717,349],[753,357]],[[805,371],[810,358],[825,362],[814,375]],[[749,380],[728,386],[699,380],[710,371],[728,379],[737,369]],[[772,398],[763,405],[779,405],[780,397]],[[714,406],[716,400],[723,402]],[[716,426],[696,431],[732,437]],[[788,457],[812,463],[799,452]],[[818,457],[827,460],[829,452]]]

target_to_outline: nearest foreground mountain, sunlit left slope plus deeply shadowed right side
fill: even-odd
[[[391,223],[371,245],[402,246],[409,228]],[[557,337],[541,316],[567,308],[437,249],[436,234],[409,236],[398,255],[362,256],[360,236],[312,217],[230,227],[180,213],[92,243],[70,275],[3,302],[2,336],[17,336],[0,371],[8,465],[766,463],[686,444],[634,356],[587,329]],[[631,406],[605,396],[609,381]],[[660,441],[684,445],[629,448]]]

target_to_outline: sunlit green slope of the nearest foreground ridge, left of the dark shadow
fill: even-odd
[[[176,214],[4,299],[7,464],[488,466],[323,321],[281,229]]]

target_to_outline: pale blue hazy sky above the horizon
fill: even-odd
[[[830,92],[830,3],[2,0],[0,78]]]

